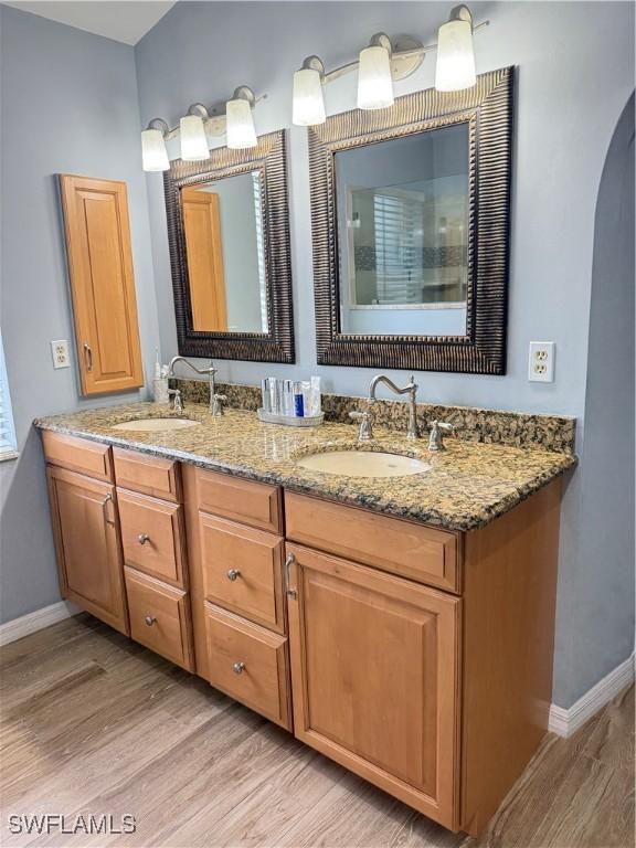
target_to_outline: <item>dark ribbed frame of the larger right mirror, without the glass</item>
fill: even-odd
[[[481,74],[464,92],[430,88],[399,97],[388,109],[354,109],[309,129],[319,364],[506,373],[512,89],[513,68],[506,67]],[[466,333],[341,333],[336,153],[457,123],[469,127]]]

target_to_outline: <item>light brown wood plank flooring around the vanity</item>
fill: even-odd
[[[2,846],[632,848],[634,690],[550,735],[479,839],[454,835],[89,616],[2,649]],[[136,833],[12,834],[10,816]]]

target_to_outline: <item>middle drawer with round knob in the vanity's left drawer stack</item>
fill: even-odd
[[[182,507],[121,489],[117,502],[126,564],[186,587]]]

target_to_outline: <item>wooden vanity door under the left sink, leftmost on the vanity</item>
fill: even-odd
[[[46,474],[62,595],[128,634],[115,487],[54,466]]]

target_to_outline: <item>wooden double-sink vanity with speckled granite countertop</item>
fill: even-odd
[[[64,597],[452,830],[478,834],[545,733],[568,451],[377,428],[428,470],[298,466],[356,449],[187,405],[36,422]],[[169,413],[168,413],[169,414]],[[114,430],[115,425],[124,430]],[[548,427],[549,430],[549,427]]]

